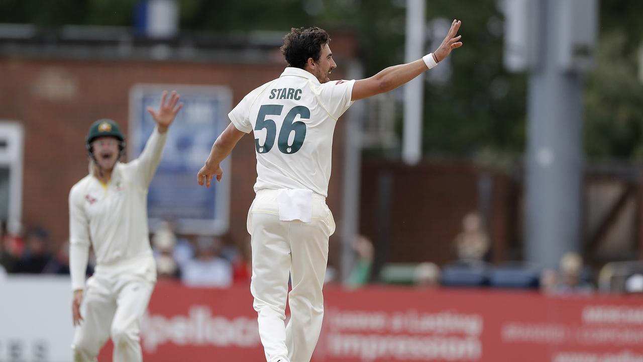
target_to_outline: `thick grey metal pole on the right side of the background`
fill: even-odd
[[[525,256],[543,267],[580,250],[583,72],[561,68],[561,33],[570,33],[570,22],[560,14],[568,3],[540,3],[543,53],[529,78]]]

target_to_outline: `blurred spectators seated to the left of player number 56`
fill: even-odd
[[[178,236],[163,224],[150,236],[158,280],[176,280],[192,287],[230,287],[249,283],[249,239],[247,247],[222,243],[221,238],[203,235]],[[69,274],[69,243],[52,250],[46,229],[10,231],[0,224],[0,280],[6,274]],[[241,250],[243,249],[243,250]],[[87,275],[93,273],[90,252]]]

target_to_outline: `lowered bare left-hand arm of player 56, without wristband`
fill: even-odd
[[[201,167],[201,170],[197,173],[199,186],[203,186],[205,183],[206,187],[210,187],[214,175],[217,175],[217,181],[221,181],[223,176],[221,162],[230,155],[232,149],[237,146],[237,142],[239,142],[245,134],[245,132],[239,131],[234,124],[228,124],[226,130],[217,137],[217,140],[215,140],[212,145],[210,156],[205,161],[205,165]]]

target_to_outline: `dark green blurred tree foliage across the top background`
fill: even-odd
[[[33,23],[42,28],[130,26],[138,2],[0,0],[0,23]],[[643,160],[643,89],[637,79],[643,1],[600,3],[597,67],[586,83],[586,153]],[[404,60],[405,0],[177,0],[177,4],[184,30],[285,33],[291,27],[311,25],[352,29],[358,35],[358,54],[367,76]],[[498,1],[431,0],[426,11],[428,21],[461,19],[464,46],[449,59],[448,81],[427,83],[424,153],[498,157],[523,153],[527,75],[507,73],[503,67],[503,16]]]

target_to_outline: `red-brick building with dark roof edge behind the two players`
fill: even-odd
[[[137,41],[125,30],[104,33],[102,40],[82,31],[76,35],[0,41],[0,122],[12,120],[24,131],[21,222],[46,227],[55,244],[68,237],[69,189],[87,175],[84,137],[89,124],[114,119],[127,133],[132,86],[224,86],[234,106],[258,85],[278,77],[285,66],[278,50],[283,34],[237,41],[191,37],[189,47],[181,39]],[[355,55],[354,39],[350,33],[335,32],[332,46],[340,65],[334,75],[341,79]],[[328,200],[338,220],[342,140],[340,126]],[[204,159],[208,153],[203,150]],[[254,165],[253,138],[244,137],[233,152],[231,174],[226,175],[231,178],[230,240],[247,236],[246,213],[257,177]]]

